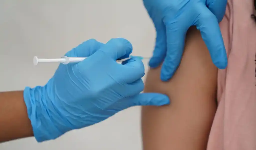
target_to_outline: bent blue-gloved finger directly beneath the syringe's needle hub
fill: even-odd
[[[145,75],[144,64],[140,58],[132,57],[120,65],[120,75],[126,83],[132,83]]]

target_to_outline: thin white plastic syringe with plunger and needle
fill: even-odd
[[[140,59],[150,59],[150,58],[145,58],[145,57],[141,57],[141,56],[130,56],[128,58],[116,60],[116,62],[123,62],[132,57],[138,57]],[[59,63],[63,63],[66,65],[68,63],[76,63],[76,62],[83,61],[86,58],[87,57],[67,57],[67,56],[64,56],[62,58],[37,58],[37,56],[35,56],[33,59],[33,63],[35,66],[38,64],[38,62],[59,62]]]

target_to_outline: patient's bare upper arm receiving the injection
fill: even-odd
[[[203,150],[216,111],[217,68],[196,28],[188,31],[179,68],[168,82],[161,67],[147,73],[144,92],[168,95],[167,106],[143,106],[144,150]]]

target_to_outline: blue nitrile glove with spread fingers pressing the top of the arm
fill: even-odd
[[[161,79],[169,80],[179,66],[186,32],[196,26],[210,52],[213,63],[220,69],[227,66],[227,54],[219,28],[227,0],[143,0],[156,29],[152,68],[162,62]]]

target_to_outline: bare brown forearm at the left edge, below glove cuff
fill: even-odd
[[[33,136],[23,91],[0,92],[0,142]]]

